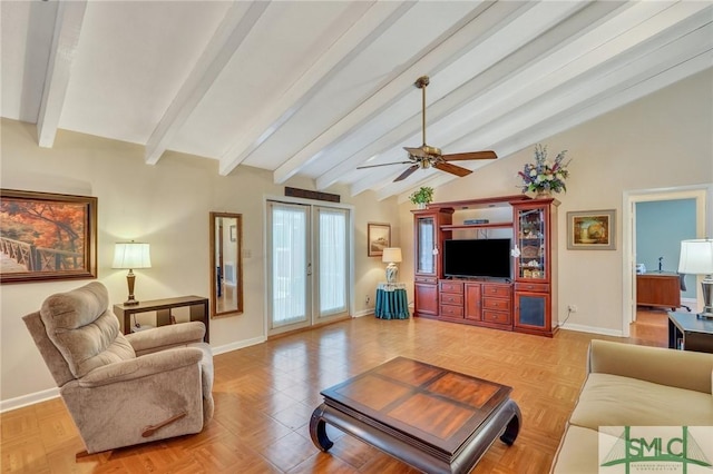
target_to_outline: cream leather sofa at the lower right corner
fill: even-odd
[[[551,473],[599,472],[599,426],[713,426],[713,354],[592,340]]]

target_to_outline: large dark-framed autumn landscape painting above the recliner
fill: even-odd
[[[0,189],[0,283],[97,277],[97,198]]]

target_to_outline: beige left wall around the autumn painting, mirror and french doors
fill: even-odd
[[[114,243],[136,239],[152,244],[150,269],[135,270],[139,300],[209,293],[208,213],[243,214],[244,314],[211,322],[211,345],[229,349],[263,340],[264,323],[264,199],[284,195],[272,174],[240,167],[219,176],[217,161],[167,154],[157,165],[143,161],[144,147],[60,131],[53,148],[37,146],[36,128],[2,120],[1,187],[62,192],[98,198],[98,279],[111,302],[127,296],[126,270],[111,269]],[[311,181],[293,179],[286,186],[313,189]],[[380,258],[367,257],[367,223],[398,221],[395,198],[377,201],[372,192],[342,203],[354,208],[354,314],[373,310],[375,285],[383,279]],[[399,239],[399,229],[392,238]],[[397,240],[398,241],[398,240]],[[3,402],[55,387],[21,317],[39,309],[57,292],[86,282],[2,285],[0,324],[0,399]],[[365,296],[371,304],[365,305]],[[6,404],[11,406],[14,402]]]

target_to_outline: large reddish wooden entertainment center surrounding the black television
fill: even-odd
[[[432,203],[414,219],[417,317],[551,337],[557,330],[557,206],[524,195]],[[494,221],[490,218],[494,216]],[[512,239],[512,278],[447,277],[446,240]]]

